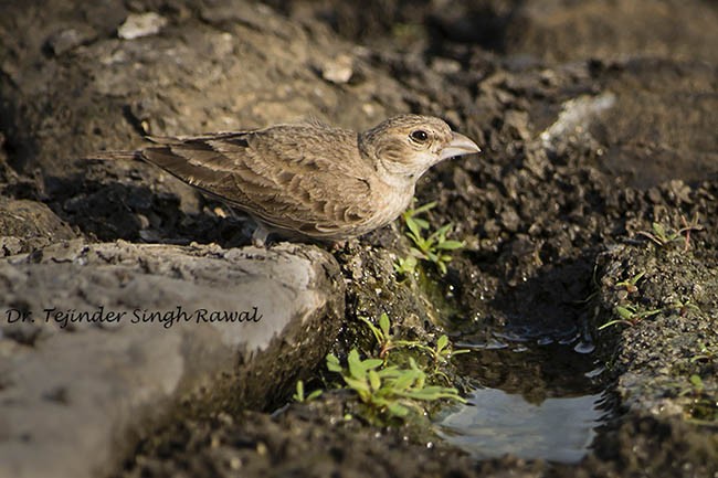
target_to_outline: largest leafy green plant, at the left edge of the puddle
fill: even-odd
[[[464,402],[456,389],[429,385],[426,373],[413,358],[409,359],[409,369],[400,369],[397,365],[386,367],[382,359],[361,360],[357,349],[352,349],[347,358],[347,368],[329,353],[327,369],[339,373],[362,403],[393,417],[403,418],[411,410],[421,412],[422,407],[415,401],[448,399]]]

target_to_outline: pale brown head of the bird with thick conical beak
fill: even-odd
[[[399,115],[359,134],[359,149],[391,182],[415,182],[454,156],[479,152],[474,141],[432,116]]]

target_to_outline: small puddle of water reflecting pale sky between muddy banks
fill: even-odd
[[[440,412],[442,438],[476,459],[574,464],[587,455],[606,416],[590,341],[494,333],[463,346],[474,351],[457,357],[460,373],[477,385],[465,405]]]

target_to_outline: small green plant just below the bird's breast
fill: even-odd
[[[446,264],[452,261],[452,256],[446,252],[464,247],[463,242],[446,238],[453,226],[451,223],[444,224],[436,231],[425,235],[431,225],[429,221],[419,217],[419,215],[431,211],[435,206],[435,202],[430,202],[416,209],[409,209],[402,214],[408,229],[405,234],[412,241],[413,246],[409,252],[409,256],[399,258],[394,263],[394,269],[398,273],[403,275],[413,274],[419,259],[421,259],[433,263],[442,275],[446,274]]]

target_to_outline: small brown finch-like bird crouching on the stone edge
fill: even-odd
[[[250,214],[268,234],[337,242],[401,214],[437,162],[478,152],[443,120],[400,115],[357,134],[309,121],[197,137],[149,137],[134,155]]]

